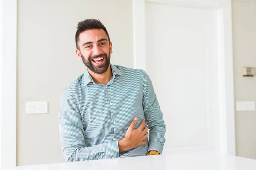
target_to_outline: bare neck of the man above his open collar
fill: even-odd
[[[88,73],[90,74],[90,76],[92,77],[92,79],[95,83],[100,83],[100,84],[104,84],[104,85],[107,85],[109,80],[113,76],[110,65],[108,66],[108,70],[103,74],[96,74],[93,71],[91,71],[90,69],[88,69]]]

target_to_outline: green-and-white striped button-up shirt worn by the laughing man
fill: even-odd
[[[112,65],[107,85],[96,84],[88,70],[64,89],[59,113],[60,143],[67,161],[145,156],[163,151],[166,126],[145,71]],[[119,154],[131,121],[148,125],[147,143]]]

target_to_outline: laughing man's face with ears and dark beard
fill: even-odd
[[[96,74],[103,74],[110,64],[112,43],[103,29],[91,29],[80,33],[80,50],[76,49],[77,56],[84,65]]]

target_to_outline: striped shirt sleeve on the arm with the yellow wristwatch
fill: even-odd
[[[143,110],[145,115],[145,122],[149,129],[149,147],[150,150],[156,150],[160,154],[163,152],[163,145],[165,142],[165,132],[166,125],[163,121],[163,113],[160,110],[159,103],[157,101],[157,96],[154,93],[154,88],[145,71],[142,72],[142,82],[143,82]]]

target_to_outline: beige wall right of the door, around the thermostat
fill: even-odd
[[[256,0],[233,0],[233,57],[236,101],[256,101],[256,77],[242,77],[256,67]],[[256,111],[236,112],[237,156],[256,159]]]

